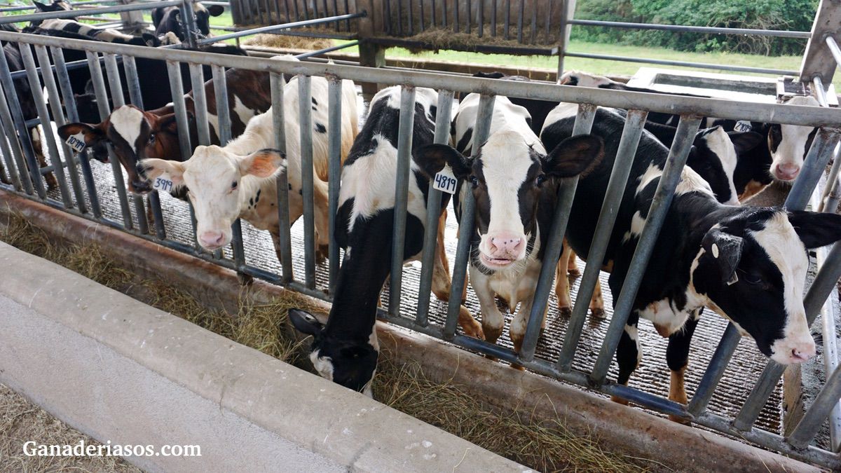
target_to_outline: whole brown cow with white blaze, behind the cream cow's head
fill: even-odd
[[[257,114],[266,112],[272,106],[272,91],[267,72],[246,69],[229,69],[225,72],[227,84],[228,114],[230,116],[231,137],[240,136],[246,130],[248,120]],[[216,108],[214,82],[204,83],[204,96],[207,99],[208,125],[211,144],[219,145],[219,111]],[[193,92],[184,96],[187,108],[190,143],[198,146],[195,102]],[[128,173],[128,190],[143,193],[151,190],[149,181],[137,173],[137,163],[145,158],[170,159],[184,161],[178,141],[178,129],[175,110],[172,104],[161,109],[144,111],[134,105],[124,105],[97,125],[69,123],[59,127],[58,134],[63,140],[82,133],[85,146],[103,149],[105,143],[114,148],[114,155]],[[101,154],[102,151],[99,151]],[[98,153],[94,153],[97,155]],[[107,154],[106,156],[107,157]]]

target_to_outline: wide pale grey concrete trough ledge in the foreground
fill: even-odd
[[[25,268],[0,279],[0,381],[103,442],[202,445],[145,469],[527,470],[5,243],[0,265]]]

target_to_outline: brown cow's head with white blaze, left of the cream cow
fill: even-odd
[[[181,160],[175,114],[157,115],[134,105],[124,105],[97,125],[70,123],[58,129],[64,140],[79,133],[84,136],[85,146],[92,147],[94,157],[100,160],[108,157],[104,151],[106,143],[114,147],[114,155],[129,175],[130,192],[151,190],[149,181],[137,173],[140,160],[164,157]]]

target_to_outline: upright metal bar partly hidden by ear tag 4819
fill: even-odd
[[[443,90],[438,93],[438,108],[435,117],[434,142],[447,144],[450,141],[450,119],[452,115],[452,91]],[[421,284],[418,286],[418,308],[415,322],[426,327],[429,316],[430,291],[432,290],[432,274],[435,269],[436,243],[438,240],[438,217],[441,212],[442,192],[433,189],[430,181],[429,194],[426,198],[426,222],[424,225],[423,252],[421,252]],[[444,251],[444,248],[441,248]]]

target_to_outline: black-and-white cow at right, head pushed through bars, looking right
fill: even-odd
[[[547,146],[569,139],[574,114],[550,114],[541,134]],[[605,159],[581,178],[569,214],[567,241],[584,258],[590,252],[624,120],[597,109],[591,133],[605,138]],[[628,275],[648,207],[669,150],[643,134],[634,155],[604,261],[611,292]],[[778,208],[722,205],[706,181],[684,167],[664,224],[642,277],[616,351],[617,382],[627,385],[642,357],[640,317],[669,337],[669,399],[685,403],[684,375],[697,316],[704,307],[726,317],[761,353],[780,364],[798,364],[815,354],[803,309],[807,250],[841,239],[841,215]]]

